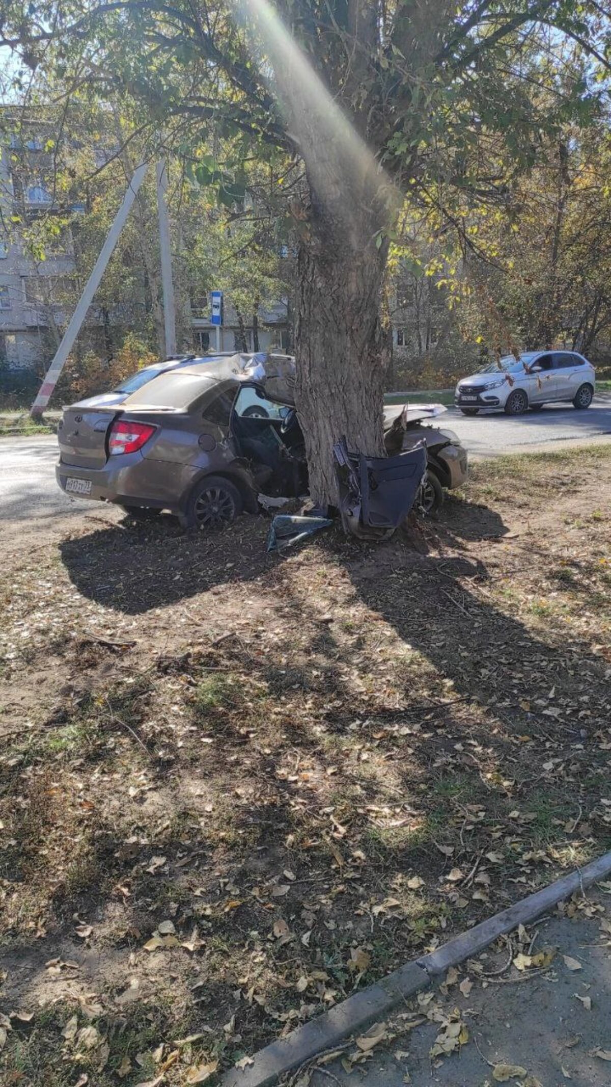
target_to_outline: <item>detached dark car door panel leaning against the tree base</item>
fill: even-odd
[[[346,439],[333,447],[344,532],[384,539],[405,521],[427,472],[423,442],[397,457],[351,453]]]

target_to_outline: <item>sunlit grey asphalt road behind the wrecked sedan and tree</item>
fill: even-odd
[[[549,404],[540,412],[510,418],[489,413],[468,418],[449,408],[438,425],[455,430],[471,453],[496,457],[553,449],[575,439],[596,441],[611,435],[611,395],[596,397],[588,411]],[[96,509],[85,499],[68,498],[55,484],[58,442],[54,435],[34,438],[0,438],[0,521],[24,521],[77,514]]]

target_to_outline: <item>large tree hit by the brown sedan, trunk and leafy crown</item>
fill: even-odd
[[[228,208],[246,162],[298,164],[282,186],[300,245],[297,398],[323,500],[340,434],[383,448],[380,307],[405,193],[473,251],[472,210],[502,207],[547,138],[602,109],[610,55],[599,0],[2,0],[0,12],[24,72],[55,93],[129,97],[142,135],[170,142]]]

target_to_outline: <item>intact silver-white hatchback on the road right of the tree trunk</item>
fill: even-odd
[[[461,378],[454,402],[463,415],[476,415],[483,408],[520,415],[527,408],[539,411],[559,400],[589,408],[595,380],[594,366],[576,351],[529,351],[520,360],[506,355]]]

